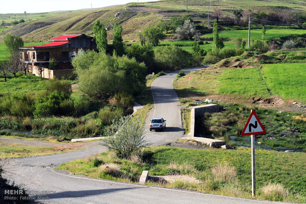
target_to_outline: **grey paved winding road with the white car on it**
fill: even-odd
[[[177,73],[177,72],[176,72]],[[160,116],[167,120],[165,132],[146,132],[146,138],[153,145],[166,144],[183,136],[179,100],[173,91],[172,81],[176,73],[158,77],[152,84],[154,108],[149,117]],[[148,124],[148,121],[146,121]],[[148,126],[147,126],[148,127]],[[104,146],[78,150],[56,155],[29,157],[10,160],[10,167],[4,177],[14,180],[27,190],[55,191],[43,203],[56,204],[273,204],[218,195],[209,195],[192,191],[168,189],[158,186],[146,186],[132,183],[115,182],[76,176],[53,167],[62,163],[85,158],[106,151]],[[37,197],[34,197],[37,198]]]

